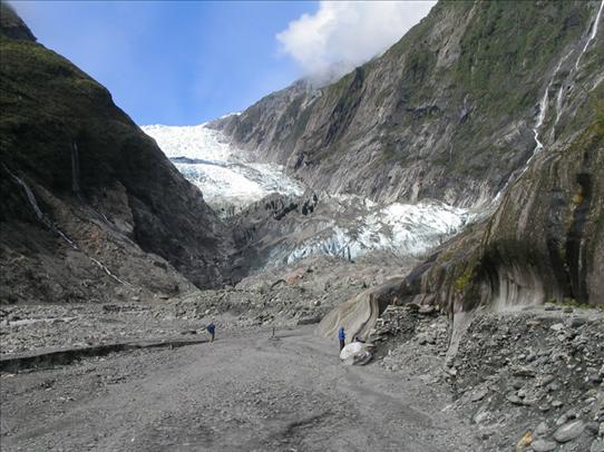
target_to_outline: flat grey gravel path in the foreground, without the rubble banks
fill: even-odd
[[[438,386],[344,367],[312,327],[269,336],[2,375],[2,450],[476,450]]]

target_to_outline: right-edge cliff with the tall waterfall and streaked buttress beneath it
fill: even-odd
[[[581,51],[561,59],[539,102],[534,158],[496,212],[418,266],[406,299],[451,312],[544,301],[604,303],[604,2]]]

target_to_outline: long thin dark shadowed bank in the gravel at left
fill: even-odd
[[[37,353],[23,353],[0,358],[0,372],[18,372],[28,369],[42,370],[56,365],[70,364],[74,361],[90,356],[105,356],[115,352],[127,352],[140,348],[182,347],[185,345],[203,344],[206,338],[199,340],[160,340],[160,341],[130,341],[114,344],[90,345],[87,347],[60,348]]]

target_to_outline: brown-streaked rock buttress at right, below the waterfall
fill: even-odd
[[[594,122],[539,154],[493,217],[409,275],[401,299],[452,313],[604,303],[604,89],[593,94],[586,108],[600,106]]]

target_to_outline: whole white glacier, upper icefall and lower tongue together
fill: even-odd
[[[206,203],[228,218],[267,195],[301,199],[311,193],[275,164],[254,161],[222,131],[198,126],[142,126],[176,168],[203,193]],[[292,217],[273,235],[262,267],[293,264],[312,255],[349,261],[371,250],[419,257],[459,232],[473,214],[436,200],[380,205],[349,194],[318,194],[313,215]],[[269,219],[267,219],[269,220]],[[274,235],[280,235],[279,237]],[[266,237],[264,237],[266,240]]]

